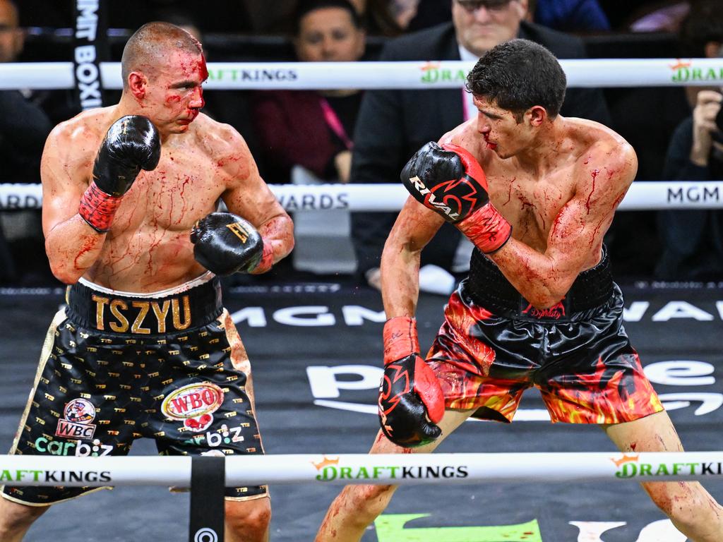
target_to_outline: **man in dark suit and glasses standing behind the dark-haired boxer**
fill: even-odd
[[[452,22],[388,41],[381,61],[476,61],[485,51],[512,38],[526,38],[549,48],[558,58],[586,56],[580,38],[527,22],[527,0],[452,0]],[[411,155],[430,140],[461,124],[477,111],[471,94],[463,89],[466,74],[458,74],[458,88],[435,88],[440,68],[427,66],[429,90],[369,90],[364,94],[354,132],[351,165],[353,183],[398,183],[399,172]],[[448,74],[455,75],[455,74]],[[590,88],[568,89],[562,115],[609,124],[602,92]],[[396,213],[356,212],[353,234],[358,272],[378,287],[382,246]],[[422,254],[422,265],[463,272],[469,266],[471,245],[455,254],[460,236],[443,225]]]

